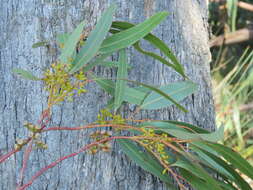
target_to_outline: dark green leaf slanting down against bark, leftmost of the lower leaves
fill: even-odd
[[[168,174],[162,174],[164,168],[150,154],[144,152],[139,146],[135,145],[130,140],[120,139],[117,140],[117,142],[120,144],[123,152],[138,166],[160,178],[171,187],[170,189],[176,189],[172,183],[171,177],[168,176]]]

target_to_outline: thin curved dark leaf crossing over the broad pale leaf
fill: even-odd
[[[155,91],[157,94],[159,94],[160,96],[168,99],[170,102],[172,102],[173,104],[175,104],[180,110],[184,111],[184,112],[187,112],[187,110],[181,106],[179,103],[177,103],[176,100],[174,100],[173,98],[171,98],[169,95],[167,95],[166,93],[164,93],[163,91],[159,90],[158,88],[154,87],[154,86],[151,86],[151,85],[147,85],[147,84],[144,84],[144,83],[141,83],[141,82],[137,82],[137,81],[133,81],[133,80],[128,80],[128,79],[124,79],[128,82],[131,82],[131,83],[135,83],[135,84],[138,84],[138,85],[141,85],[141,86],[144,86],[152,91]],[[144,100],[145,102],[145,100]],[[143,108],[143,107],[142,107]]]

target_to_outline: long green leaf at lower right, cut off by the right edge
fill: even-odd
[[[253,179],[253,167],[237,152],[221,144],[208,143],[208,146],[223,156],[228,162],[233,164],[233,166],[240,170],[240,172]]]

